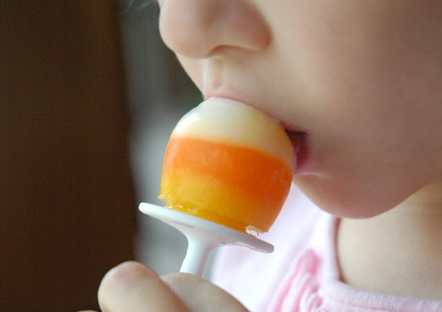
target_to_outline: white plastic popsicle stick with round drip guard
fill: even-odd
[[[200,217],[148,203],[141,203],[139,208],[142,213],[173,226],[187,237],[189,246],[180,272],[202,277],[211,251],[218,246],[233,245],[262,253],[273,252],[273,245],[268,242]]]

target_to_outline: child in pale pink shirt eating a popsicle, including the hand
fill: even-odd
[[[275,253],[225,248],[215,283],[252,311],[442,311],[441,1],[160,7],[162,38],[204,97],[279,119],[298,157],[265,237]],[[104,277],[99,302],[245,311],[198,277],[134,262]]]

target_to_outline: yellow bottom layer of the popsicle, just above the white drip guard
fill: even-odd
[[[241,193],[218,179],[180,173],[179,170],[164,176],[162,188],[164,193],[159,198],[166,202],[167,208],[244,233],[247,233],[248,227],[259,233],[267,232],[280,211],[280,207],[264,206],[260,199]]]

